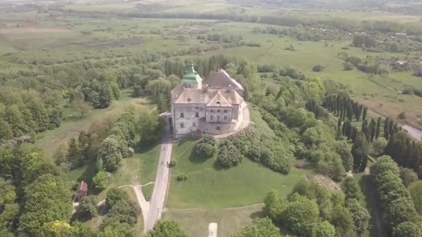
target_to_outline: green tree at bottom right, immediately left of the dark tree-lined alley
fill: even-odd
[[[355,198],[346,200],[346,208],[352,215],[356,235],[358,237],[362,236],[369,226],[371,216],[369,216],[368,211],[364,207],[360,206],[359,201]]]

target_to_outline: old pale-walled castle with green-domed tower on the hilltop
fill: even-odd
[[[223,69],[203,79],[194,65],[171,90],[174,138],[203,133],[230,134],[247,126],[249,113],[244,88]]]

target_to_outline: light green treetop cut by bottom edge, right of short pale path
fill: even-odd
[[[244,227],[232,237],[281,237],[280,230],[271,222],[269,218],[258,218],[253,220],[253,224]],[[322,237],[322,236],[321,236]]]

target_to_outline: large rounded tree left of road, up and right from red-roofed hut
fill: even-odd
[[[108,172],[115,172],[121,166],[121,149],[118,141],[112,138],[106,138],[100,144],[97,161],[103,162],[103,168]]]

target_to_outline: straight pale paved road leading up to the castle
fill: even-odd
[[[164,200],[166,198],[167,183],[169,181],[169,167],[167,166],[167,164],[170,163],[171,145],[173,141],[171,134],[169,133],[169,116],[170,114],[164,114],[164,119],[166,121],[166,129],[164,132],[164,136],[162,137],[157,176],[155,177],[154,190],[150,200],[148,218],[144,227],[145,233],[153,229],[155,222],[157,222],[157,220],[160,220],[162,209],[164,207]]]

